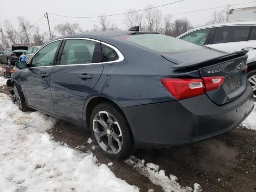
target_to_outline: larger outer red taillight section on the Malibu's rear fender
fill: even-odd
[[[163,78],[161,82],[177,100],[204,94],[202,79]]]

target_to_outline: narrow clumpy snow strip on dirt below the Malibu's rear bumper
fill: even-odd
[[[193,189],[191,187],[181,187],[178,182],[176,182],[176,177],[174,175],[170,175],[173,178],[170,179],[165,175],[164,170],[156,171],[159,169],[158,165],[155,164],[146,164],[146,167],[143,165],[144,160],[137,159],[134,156],[130,156],[128,160],[125,161],[128,165],[133,166],[136,170],[148,177],[153,184],[159,185],[162,187],[164,192],[192,192]],[[178,179],[178,178],[177,178]],[[193,192],[200,192],[200,185],[194,184]]]

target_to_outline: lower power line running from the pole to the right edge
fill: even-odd
[[[251,2],[246,2],[246,3],[238,3],[238,4],[232,4],[230,6],[234,6],[234,5],[241,5],[241,4],[247,4],[247,3],[253,3],[256,1],[251,1]],[[187,11],[187,12],[180,12],[180,13],[172,13],[172,14],[164,14],[164,15],[160,15],[160,16],[166,16],[166,15],[177,15],[177,14],[184,14],[184,13],[192,13],[192,12],[198,12],[198,11],[204,11],[204,10],[211,10],[211,9],[217,9],[217,8],[223,8],[226,6],[219,6],[219,7],[213,7],[213,8],[206,8],[206,9],[200,9],[200,10],[194,10],[194,11]],[[50,13],[48,13],[50,14]],[[157,16],[159,17],[159,16]],[[147,18],[147,17],[143,17],[143,18]],[[124,20],[129,20],[129,19],[118,19],[118,20],[107,20],[107,21],[124,21]],[[63,21],[63,20],[50,20],[50,21],[56,21],[56,22],[100,22],[100,21]]]

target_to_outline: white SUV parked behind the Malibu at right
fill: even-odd
[[[230,53],[249,49],[247,75],[254,89],[254,97],[256,97],[256,20],[206,24],[181,34],[177,38]]]

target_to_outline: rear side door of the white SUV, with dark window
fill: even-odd
[[[249,40],[251,29],[252,26],[216,27],[207,46],[230,53],[240,51],[242,48],[254,47],[255,40]]]

